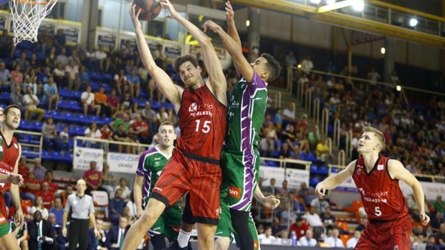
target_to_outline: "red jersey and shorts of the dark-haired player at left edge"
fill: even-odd
[[[14,171],[14,167],[16,166],[17,159],[19,158],[19,143],[17,139],[13,136],[11,143],[8,145],[5,137],[3,137],[2,132],[0,132],[0,136],[2,136],[2,147],[3,147],[3,157],[0,161],[0,173],[8,175]],[[7,217],[6,213],[6,203],[5,198],[3,197],[3,193],[8,191],[11,187],[11,183],[3,183],[0,182],[0,218],[2,216]]]

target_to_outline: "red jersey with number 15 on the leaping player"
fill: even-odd
[[[227,107],[213,96],[207,85],[196,91],[184,90],[177,114],[181,129],[177,149],[219,160],[227,130],[226,116]]]

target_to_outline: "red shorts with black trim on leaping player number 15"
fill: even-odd
[[[186,192],[195,221],[218,225],[221,168],[218,161],[173,150],[153,188],[152,198],[173,205]]]

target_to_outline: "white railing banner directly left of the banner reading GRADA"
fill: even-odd
[[[77,147],[73,156],[73,169],[88,170],[90,162],[97,163],[97,170],[102,171],[104,165],[104,149]]]

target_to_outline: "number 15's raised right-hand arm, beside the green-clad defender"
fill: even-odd
[[[193,23],[177,13],[173,5],[168,0],[161,0],[159,3],[162,5],[162,7],[168,8],[170,11],[170,17],[184,26],[184,28],[186,28],[187,31],[199,42],[202,49],[202,59],[209,78],[211,79],[211,87],[215,92],[224,93],[224,95],[226,95],[226,77],[222,72],[221,61],[219,61],[219,58],[216,55],[215,48],[213,47],[210,38]]]

